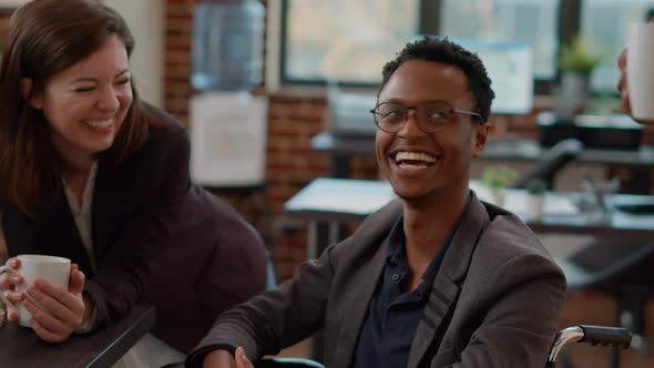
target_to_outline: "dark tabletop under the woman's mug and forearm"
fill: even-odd
[[[154,307],[139,306],[116,324],[61,344],[45,343],[16,323],[0,329],[1,367],[112,367],[154,326]]]

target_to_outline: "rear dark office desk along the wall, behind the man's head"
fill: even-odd
[[[354,155],[375,154],[375,136],[336,136],[330,132],[323,132],[311,139],[311,149],[329,153],[330,176],[349,177],[349,160]],[[487,143],[480,159],[538,161],[546,150],[538,142],[529,140],[491,141]],[[641,146],[637,151],[585,149],[575,161],[651,170],[654,167],[654,146]]]

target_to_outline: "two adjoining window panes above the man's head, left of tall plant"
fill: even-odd
[[[558,12],[559,0],[285,0],[282,81],[376,84],[420,33],[535,44],[532,70],[552,79]]]

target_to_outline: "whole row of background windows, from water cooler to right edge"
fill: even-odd
[[[274,1],[269,1],[270,6]],[[582,32],[605,57],[592,88],[616,93],[615,60],[631,21],[654,0],[280,0],[278,81],[375,85],[384,62],[420,33],[523,42],[539,93],[555,82],[560,44]]]

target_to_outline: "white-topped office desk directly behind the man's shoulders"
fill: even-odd
[[[478,182],[470,187],[480,200],[489,200],[490,191]],[[527,221],[527,192],[507,190],[504,207],[520,216],[534,232],[595,235],[619,238],[654,238],[654,214],[633,215],[613,211],[604,219],[580,213],[572,200],[579,193],[548,193],[540,221]],[[289,216],[309,222],[309,256],[317,257],[325,247],[340,241],[335,231],[338,224],[361,221],[395,198],[392,188],[382,181],[361,181],[320,177],[314,180],[284,205]],[[611,206],[654,204],[654,195],[614,194],[607,197]],[[317,226],[328,224],[327,238],[318,236]]]

